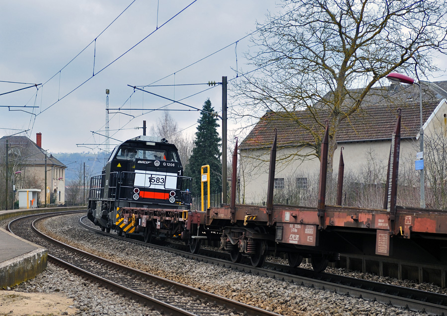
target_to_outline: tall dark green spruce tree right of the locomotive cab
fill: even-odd
[[[211,193],[219,192],[222,187],[222,162],[221,162],[221,138],[217,128],[218,118],[214,113],[210,99],[206,100],[202,108],[203,112],[197,126],[194,139],[194,148],[185,170],[185,175],[192,178],[192,195],[201,194],[201,167],[210,165],[210,189]],[[204,183],[206,188],[206,183]],[[205,189],[206,192],[206,189]]]

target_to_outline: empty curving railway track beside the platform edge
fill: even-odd
[[[39,214],[16,219],[8,230],[42,245],[51,261],[93,282],[133,299],[161,314],[172,316],[253,315],[278,316],[212,293],[160,278],[76,249],[39,232],[36,223],[52,216],[76,212]]]

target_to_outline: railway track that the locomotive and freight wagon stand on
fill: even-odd
[[[447,295],[444,294],[426,292],[330,273],[315,273],[312,270],[292,268],[288,265],[272,262],[266,262],[263,268],[255,268],[250,264],[246,265],[232,263],[229,261],[229,255],[220,251],[202,249],[201,252],[196,255],[185,250],[180,250],[185,249],[186,246],[183,247],[182,245],[179,245],[175,247],[165,247],[157,244],[148,244],[143,241],[119,237],[115,234],[102,232],[95,227],[92,227],[88,220],[84,223],[83,218],[79,220],[79,223],[95,234],[101,234],[148,247],[162,249],[198,261],[230,267],[241,271],[248,271],[253,274],[265,275],[271,278],[285,280],[308,287],[321,288],[327,291],[343,293],[347,296],[378,301],[392,306],[407,308],[412,311],[425,312],[433,315],[447,315]]]

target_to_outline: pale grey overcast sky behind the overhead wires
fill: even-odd
[[[255,30],[256,20],[265,21],[268,10],[279,10],[275,0],[197,0],[187,7],[191,2],[2,1],[0,80],[44,85],[38,90],[31,87],[0,95],[1,106],[30,107],[10,108],[22,111],[0,107],[0,136],[28,130],[18,135],[35,141],[36,133],[41,132],[42,147],[52,153],[97,151],[94,144],[104,143],[104,137],[91,131],[105,134],[106,89],[110,90],[109,108],[140,109],[123,110],[121,114],[110,110],[110,136],[124,141],[142,134],[136,128],[142,127],[143,120],[150,127],[163,114],[143,108],[170,104],[166,108],[188,109],[149,93],[133,93],[128,84],[219,82],[222,76],[236,76],[236,58],[239,68],[249,70],[243,53],[249,50],[250,42],[242,38]],[[239,39],[242,40],[237,46],[223,49]],[[182,70],[195,62],[198,63]],[[0,82],[0,94],[29,85]],[[197,108],[210,98],[214,108],[221,111],[221,86],[207,88],[208,85],[189,85],[148,90]],[[195,133],[200,112],[170,113],[180,129],[190,135]],[[231,128],[232,123],[228,124]]]

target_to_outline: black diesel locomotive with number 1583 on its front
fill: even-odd
[[[135,137],[118,145],[102,174],[91,177],[87,217],[102,231],[141,235],[146,242],[181,236],[198,251],[198,225],[192,222],[200,212],[189,210],[190,183],[175,145]]]

